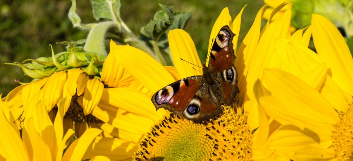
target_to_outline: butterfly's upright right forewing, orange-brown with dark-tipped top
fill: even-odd
[[[212,45],[208,67],[218,73],[234,66],[233,37],[228,26],[223,26]]]

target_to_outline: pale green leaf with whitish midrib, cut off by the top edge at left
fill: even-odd
[[[120,19],[120,0],[90,0],[93,8],[93,17],[96,20],[110,19],[117,21]]]

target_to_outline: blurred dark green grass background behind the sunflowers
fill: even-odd
[[[139,35],[140,27],[146,25],[156,11],[158,3],[174,6],[175,11],[191,12],[192,16],[185,27],[193,39],[201,62],[205,62],[208,39],[214,22],[224,7],[234,19],[241,8],[247,4],[241,19],[239,41],[252,25],[262,0],[121,0],[120,14],[131,30]],[[65,47],[56,44],[61,41],[79,40],[87,32],[73,28],[67,17],[70,0],[1,0],[0,1],[0,94],[3,97],[19,84],[14,81],[30,82],[16,66],[2,63],[22,62],[25,59],[51,57],[49,44],[55,53],[65,51]],[[92,7],[88,0],[77,0],[77,11],[83,23],[95,22]]]

